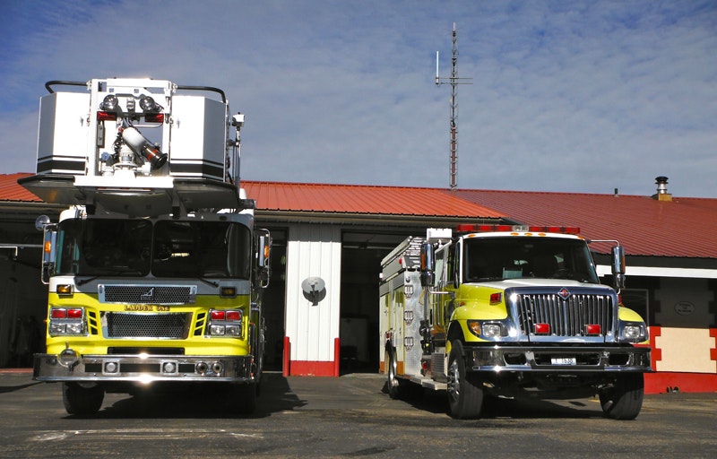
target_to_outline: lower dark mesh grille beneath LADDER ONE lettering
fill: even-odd
[[[191,314],[107,313],[108,338],[185,339]]]

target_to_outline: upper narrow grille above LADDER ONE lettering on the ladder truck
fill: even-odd
[[[102,285],[100,303],[185,305],[194,303],[192,286]]]

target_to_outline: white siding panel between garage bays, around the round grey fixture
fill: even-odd
[[[333,361],[341,318],[341,230],[333,226],[289,226],[286,255],[286,333],[291,360]],[[317,306],[304,298],[301,282],[321,277],[326,297]]]

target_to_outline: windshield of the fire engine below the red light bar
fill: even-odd
[[[465,281],[520,278],[599,283],[587,244],[568,238],[467,238]]]

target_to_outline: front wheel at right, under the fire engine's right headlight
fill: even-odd
[[[619,375],[615,384],[600,391],[602,412],[613,420],[634,420],[643,407],[642,373]]]

